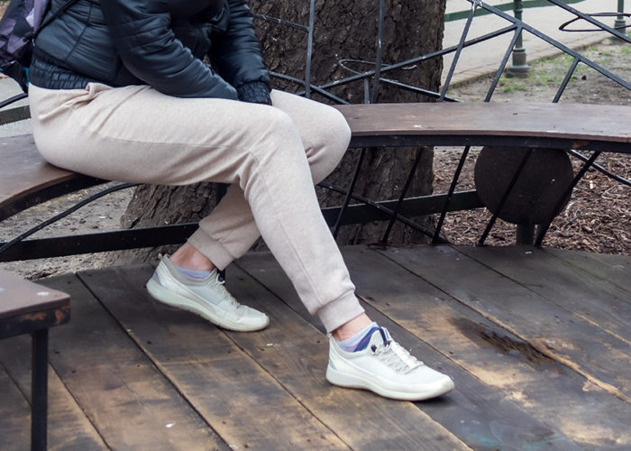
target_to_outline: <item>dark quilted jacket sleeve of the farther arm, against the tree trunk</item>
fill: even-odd
[[[239,89],[249,83],[270,88],[270,73],[261,56],[261,45],[254,32],[252,14],[245,0],[228,0],[230,23],[209,52],[216,71]]]

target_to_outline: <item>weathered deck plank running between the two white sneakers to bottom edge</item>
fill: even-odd
[[[260,333],[229,335],[353,449],[467,448],[412,403],[326,382],[328,340],[322,332],[238,268],[227,274],[233,294],[266,311],[271,320]],[[291,290],[290,284],[285,287]],[[452,404],[450,395],[434,402]]]

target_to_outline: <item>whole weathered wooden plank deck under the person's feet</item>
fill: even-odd
[[[437,400],[325,381],[323,328],[268,253],[228,270],[258,333],[153,301],[151,267],[43,281],[50,449],[630,449],[631,257],[527,247],[343,250],[370,316],[453,376]],[[0,449],[29,444],[30,340],[0,342]]]

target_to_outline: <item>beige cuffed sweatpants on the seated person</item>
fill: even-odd
[[[315,197],[350,139],[334,108],[280,91],[267,106],[101,84],[32,86],[29,98],[50,163],[117,181],[229,183],[190,244],[224,268],[262,235],[328,331],[363,311]]]

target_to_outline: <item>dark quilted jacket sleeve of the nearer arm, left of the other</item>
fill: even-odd
[[[137,78],[170,96],[237,98],[170,30],[165,0],[102,0],[101,8],[123,64]]]

